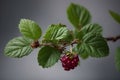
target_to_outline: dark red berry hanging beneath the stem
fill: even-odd
[[[76,54],[65,54],[61,57],[60,61],[62,62],[64,70],[69,71],[70,69],[77,67],[79,57]]]

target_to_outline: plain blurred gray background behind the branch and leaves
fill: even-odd
[[[120,13],[120,0],[0,0],[0,80],[120,80],[115,69],[114,54],[120,40],[109,42],[110,55],[105,58],[81,60],[81,65],[66,72],[58,62],[43,69],[37,63],[37,49],[21,59],[3,55],[5,44],[20,36],[18,23],[21,18],[35,20],[43,33],[52,23],[71,24],[66,8],[71,3],[84,5],[91,12],[92,22],[103,26],[104,37],[120,34],[120,25],[108,14],[108,10]]]

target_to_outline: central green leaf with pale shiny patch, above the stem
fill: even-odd
[[[68,36],[68,29],[65,25],[57,24],[50,25],[44,35],[45,40],[59,41]]]

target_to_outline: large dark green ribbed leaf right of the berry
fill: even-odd
[[[106,40],[102,36],[91,33],[83,36],[77,48],[79,53],[87,53],[91,57],[105,57],[109,54]]]

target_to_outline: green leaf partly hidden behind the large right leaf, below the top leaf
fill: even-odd
[[[102,35],[102,27],[99,24],[87,24],[82,27],[80,31],[75,31],[75,36],[77,39],[81,39],[86,34],[96,34]]]

